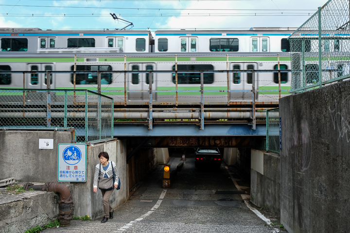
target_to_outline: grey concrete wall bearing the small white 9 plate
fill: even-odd
[[[53,150],[39,149],[39,138],[53,138]],[[0,180],[57,181],[57,145],[72,139],[71,132],[0,131]]]

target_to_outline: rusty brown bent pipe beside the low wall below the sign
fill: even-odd
[[[73,203],[73,200],[70,196],[70,190],[66,185],[60,183],[44,183],[41,185],[34,185],[33,183],[26,183],[23,186],[24,190],[29,190],[33,188],[37,191],[47,191],[60,194],[60,201],[58,202],[59,216],[58,221],[61,225],[69,226],[70,220],[72,219],[70,204]]]

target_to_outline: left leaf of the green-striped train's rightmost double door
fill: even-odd
[[[231,63],[230,69],[234,70],[234,72],[230,73],[229,89],[233,92],[229,94],[229,101],[242,101],[244,93],[239,90],[243,90],[244,80],[242,78],[245,76],[245,73],[241,73],[239,70],[245,69],[244,63]]]

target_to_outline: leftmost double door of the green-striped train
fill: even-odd
[[[28,70],[30,71],[52,71],[53,64],[28,64]],[[29,89],[46,89],[47,77],[46,73],[33,73],[26,77],[26,87]],[[51,89],[54,88],[55,83],[53,80],[53,74],[50,75]]]

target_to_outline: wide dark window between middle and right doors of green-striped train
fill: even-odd
[[[173,66],[175,70],[175,65]],[[177,70],[214,70],[212,65],[177,65]],[[173,74],[173,83],[176,83],[175,74]],[[214,73],[204,73],[204,84],[214,82]],[[177,73],[177,84],[200,84],[200,73]]]

